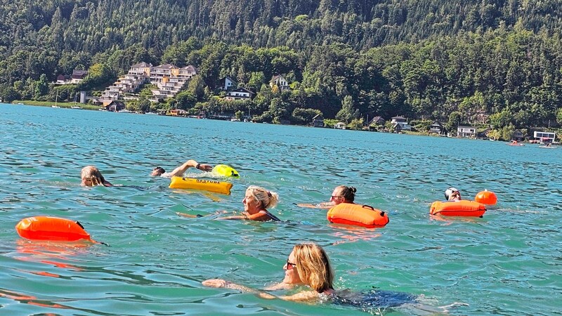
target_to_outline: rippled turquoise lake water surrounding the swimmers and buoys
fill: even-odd
[[[339,289],[468,304],[453,315],[562,314],[560,148],[22,105],[0,104],[0,113],[1,315],[364,315],[200,283],[280,281],[292,246],[309,241],[325,247]],[[148,176],[186,159],[229,164],[242,177],[226,196]],[[80,187],[89,164],[143,190]],[[270,211],[287,222],[176,215],[240,212],[251,184],[279,193]],[[331,226],[326,211],[295,205],[326,201],[340,184],[387,211],[386,228]],[[492,190],[499,203],[483,218],[431,218],[449,185],[464,199]],[[111,246],[21,239],[15,224],[37,215],[79,220]]]

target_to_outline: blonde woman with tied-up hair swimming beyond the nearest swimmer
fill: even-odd
[[[246,190],[246,195],[242,199],[242,204],[244,204],[244,212],[241,216],[228,216],[218,219],[223,220],[258,220],[258,221],[268,221],[273,220],[275,222],[281,221],[277,216],[270,213],[267,208],[274,208],[279,202],[279,195],[275,192],[270,192],[263,187],[257,185],[250,185]],[[216,212],[217,213],[217,212]],[[187,218],[197,218],[203,217],[200,214],[191,215],[186,213],[177,213],[179,216]]]

